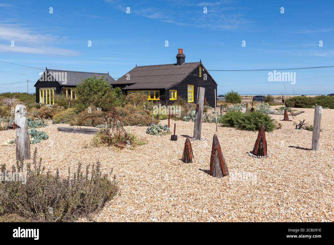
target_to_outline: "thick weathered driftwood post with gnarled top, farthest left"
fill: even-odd
[[[24,105],[15,107],[15,132],[16,132],[16,160],[30,159],[30,140],[28,125],[26,122],[27,108]]]

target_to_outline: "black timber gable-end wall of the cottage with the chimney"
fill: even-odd
[[[204,69],[203,66],[201,67],[202,69]],[[207,75],[206,76],[207,80],[204,80],[204,74]],[[181,96],[187,100],[188,99],[188,84],[194,85],[194,103],[196,103],[198,87],[204,87],[205,88],[204,97],[206,97],[206,101],[209,103],[209,105],[211,107],[214,107],[214,101],[216,99],[214,96],[214,90],[216,89],[217,91],[217,85],[215,84],[215,82],[213,81],[213,79],[207,73],[205,69],[204,71],[202,70],[202,76],[199,77],[199,67],[197,67],[191,74],[189,74],[189,76],[186,77],[180,84],[170,89],[167,89],[165,92],[164,100],[166,101],[169,100],[169,90],[176,90],[177,97]],[[173,101],[175,100],[170,100],[171,103],[173,103]]]

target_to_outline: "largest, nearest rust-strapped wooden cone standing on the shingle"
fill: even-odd
[[[223,153],[221,152],[217,135],[213,135],[213,140],[212,140],[210,175],[216,178],[222,178],[223,176],[229,175],[225,158]]]

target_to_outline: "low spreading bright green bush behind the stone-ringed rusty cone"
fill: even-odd
[[[258,131],[263,123],[267,132],[278,128],[275,119],[268,114],[259,111],[250,113],[241,113],[238,111],[229,111],[218,120],[226,127],[236,127],[240,130]]]

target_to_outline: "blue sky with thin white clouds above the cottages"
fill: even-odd
[[[136,64],[175,63],[178,48],[186,62],[201,59],[208,70],[331,66],[333,9],[329,0],[0,0],[0,60],[42,69],[109,71],[114,78]],[[26,92],[26,83],[6,84],[37,81],[40,72],[0,62],[0,93]],[[334,93],[334,68],[292,72],[297,80],[285,82],[287,94]],[[268,82],[268,71],[210,74],[218,94],[285,93],[283,82]],[[262,84],[240,85],[252,83]],[[29,92],[35,91],[33,85]]]

